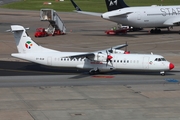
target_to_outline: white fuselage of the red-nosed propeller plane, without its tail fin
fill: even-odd
[[[83,53],[78,52],[51,52],[51,53],[15,53],[12,56],[32,61],[35,63],[56,66],[56,67],[75,67],[81,69],[99,69],[100,72],[111,70],[146,70],[146,71],[168,71],[170,70],[170,62],[157,61],[163,58],[160,55],[151,54],[111,54],[113,57],[112,64],[103,61],[89,60],[85,57],[82,58],[69,58],[64,56],[73,56]],[[156,61],[155,61],[156,59]],[[107,65],[106,65],[107,64]]]

